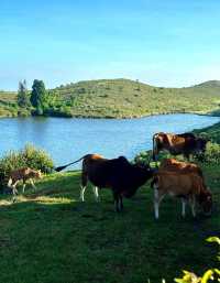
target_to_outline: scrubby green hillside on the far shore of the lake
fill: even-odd
[[[130,118],[173,112],[219,115],[220,83],[210,80],[194,87],[164,88],[129,79],[101,79],[50,89],[47,96],[47,116]],[[0,92],[0,116],[19,112],[14,99],[15,94]],[[10,110],[11,106],[14,111]]]

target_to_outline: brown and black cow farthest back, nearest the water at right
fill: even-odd
[[[193,153],[204,153],[206,151],[207,140],[197,138],[193,133],[155,133],[153,135],[153,160],[156,155],[166,150],[173,155],[184,154],[189,160]]]

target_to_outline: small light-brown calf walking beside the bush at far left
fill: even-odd
[[[33,181],[34,178],[42,178],[42,173],[40,170],[36,171],[36,170],[32,170],[30,167],[14,170],[10,173],[8,186],[12,187],[13,195],[18,194],[16,185],[20,181],[22,181],[23,182],[23,191],[22,192],[24,193],[24,189],[26,186],[26,181],[29,181],[29,179],[32,184],[32,187],[35,188],[34,181]]]

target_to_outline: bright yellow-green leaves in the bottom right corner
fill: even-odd
[[[208,242],[217,242],[220,246],[220,238],[210,237],[207,239]],[[177,283],[208,283],[210,281],[220,282],[220,269],[208,269],[202,275],[198,276],[193,272],[184,270],[182,279],[175,279]]]

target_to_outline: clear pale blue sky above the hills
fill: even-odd
[[[1,0],[0,89],[96,78],[220,79],[219,0]]]

